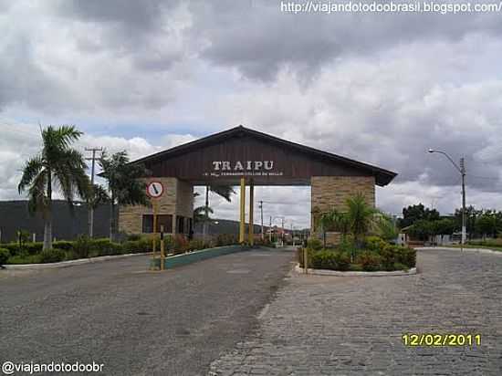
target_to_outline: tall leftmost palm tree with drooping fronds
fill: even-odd
[[[71,144],[82,135],[74,126],[59,128],[48,126],[41,130],[42,150],[30,158],[23,168],[23,176],[17,186],[19,193],[26,189],[29,195],[28,210],[39,212],[44,218],[43,249],[52,248],[52,193],[58,189],[70,208],[77,193],[88,199],[89,177],[86,174],[84,156]]]

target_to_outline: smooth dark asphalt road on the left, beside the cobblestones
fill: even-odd
[[[147,256],[0,270],[0,360],[103,363],[106,375],[206,374],[257,326],[293,253],[260,248],[165,272]]]

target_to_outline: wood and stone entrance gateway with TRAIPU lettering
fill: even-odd
[[[157,231],[163,225],[168,234],[189,234],[193,226],[193,186],[240,186],[241,243],[253,243],[254,226],[246,236],[246,186],[249,194],[249,224],[254,221],[255,185],[310,185],[311,231],[315,218],[331,208],[345,210],[345,201],[362,193],[375,205],[375,184],[385,186],[397,175],[367,163],[295,142],[279,139],[243,126],[222,131],[173,149],[160,151],[131,163],[142,163],[152,172],[143,178],[153,188],[162,186],[157,199]],[[120,206],[120,232],[152,233],[152,208],[142,205]],[[336,234],[331,234],[336,241]],[[246,239],[247,237],[247,239]]]

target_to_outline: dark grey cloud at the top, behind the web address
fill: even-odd
[[[470,33],[499,34],[499,15],[293,14],[280,1],[191,3],[203,56],[271,80],[283,66],[316,74],[336,57],[366,56],[414,41],[461,40]]]

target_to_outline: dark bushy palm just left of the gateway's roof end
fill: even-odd
[[[117,205],[150,205],[146,195],[146,183],[141,178],[150,172],[140,163],[130,163],[127,151],[119,151],[110,156],[101,153],[100,175],[107,181],[110,195],[110,239],[117,234]]]

